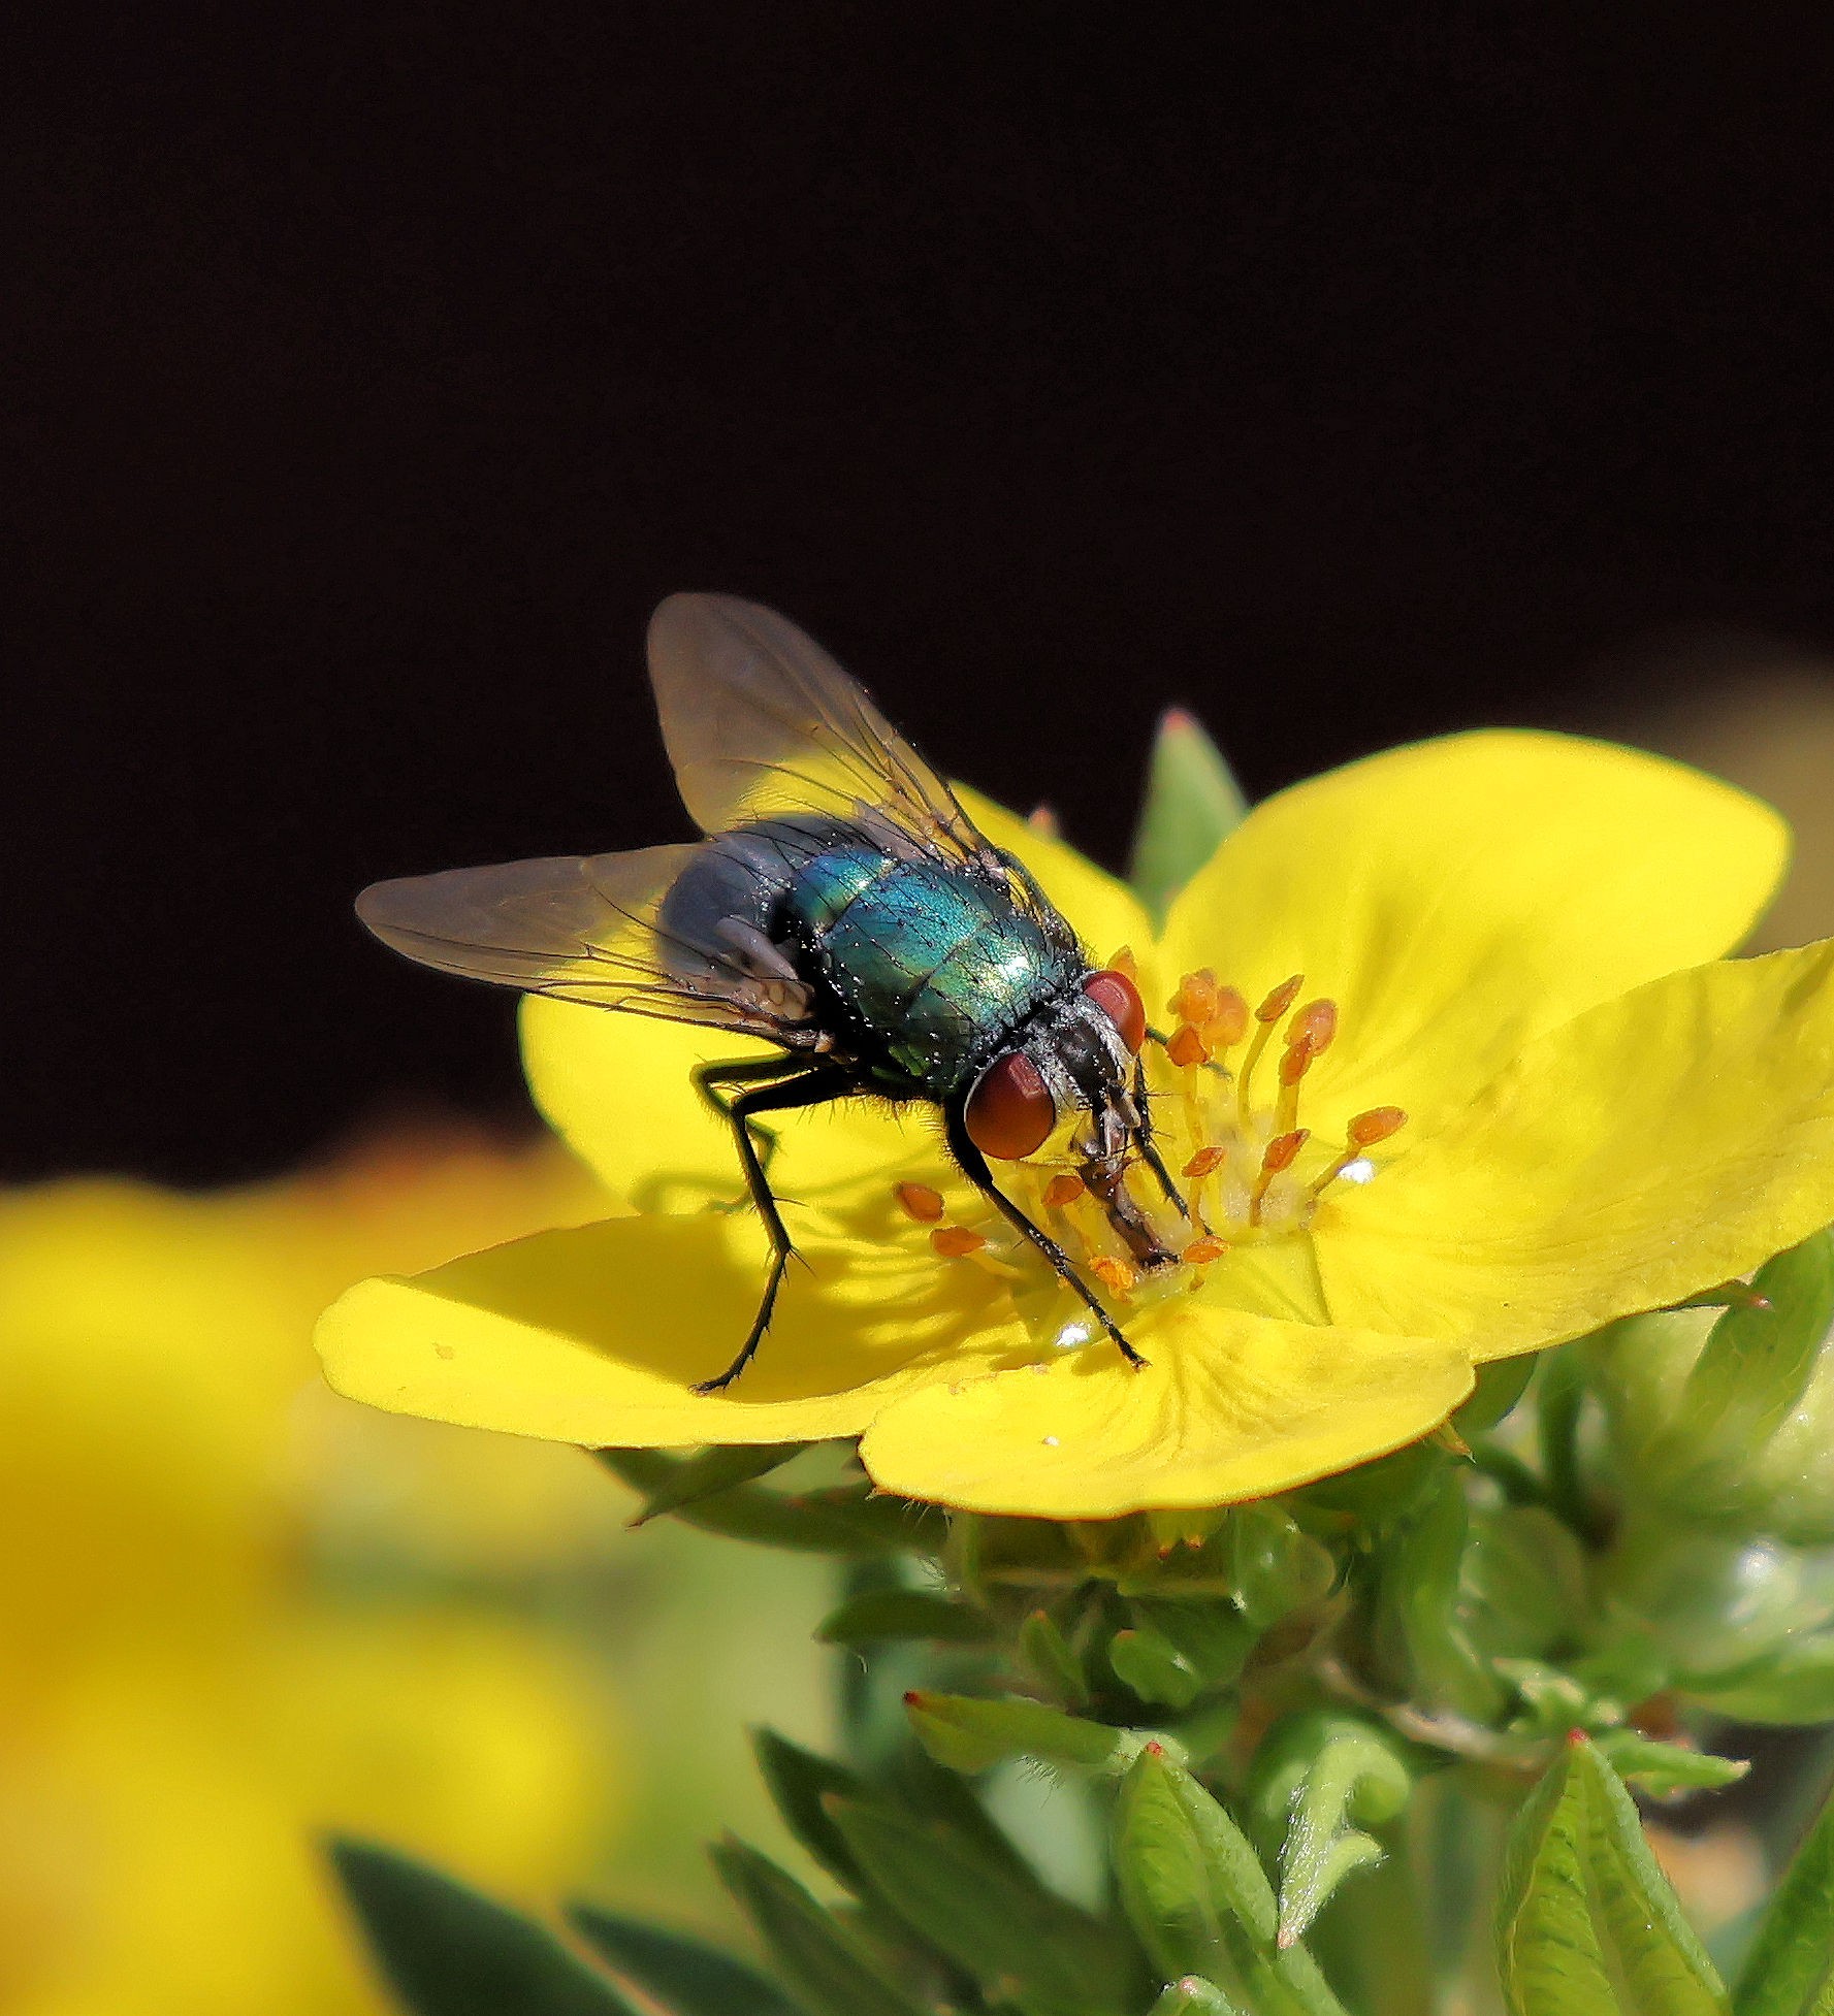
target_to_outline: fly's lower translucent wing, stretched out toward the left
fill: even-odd
[[[373,883],[357,915],[422,966],[805,1046],[809,994],[769,941],[710,919],[684,931],[662,911],[698,847],[555,855]],[[724,929],[724,935],[722,935]]]

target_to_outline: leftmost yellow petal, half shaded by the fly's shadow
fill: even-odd
[[[724,1216],[539,1232],[412,1280],[365,1280],[319,1322],[325,1377],[395,1413],[585,1445],[853,1435],[892,1393],[1029,1355],[1005,1280],[910,1238],[811,1240],[771,1333],[718,1395],[765,1286]]]

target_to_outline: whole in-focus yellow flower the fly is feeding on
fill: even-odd
[[[1176,1228],[1186,1260],[1142,1278],[1067,1163],[1009,1171],[1144,1371],[1090,1341],[930,1129],[851,1107],[785,1123],[805,1266],[757,1363],[692,1393],[763,1278],[688,1083],[742,1044],[537,1000],[537,1099],[634,1216],[357,1286],[321,1325],[331,1383],[581,1443],[864,1435],[882,1486],[995,1512],[1215,1504],[1392,1450],[1475,1363],[1834,1218],[1834,943],[1721,958],[1788,845],[1729,786],[1543,734],[1394,750],[1259,806],[1158,941],[1069,849],[975,812],[1172,1004],[1148,1068],[1202,1220]]]

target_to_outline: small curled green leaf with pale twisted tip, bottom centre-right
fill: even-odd
[[[1354,1869],[1382,1859],[1362,1829],[1396,1818],[1414,1790],[1400,1744],[1356,1716],[1281,1722],[1255,1754],[1247,1798],[1279,1849],[1279,1937],[1301,1937]]]

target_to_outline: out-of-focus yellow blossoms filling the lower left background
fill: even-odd
[[[377,1589],[325,1562],[355,1516],[345,1423],[402,1548],[430,1520],[434,1568],[603,1536],[603,1480],[406,1421],[397,1462],[323,1391],[307,1335],[369,1268],[601,1210],[551,1149],[454,1143],[218,1198],[0,1200],[6,2016],[381,2012],[319,1863],[327,1826],[531,1903],[593,1869],[623,1792],[591,1667],[426,1574]]]

